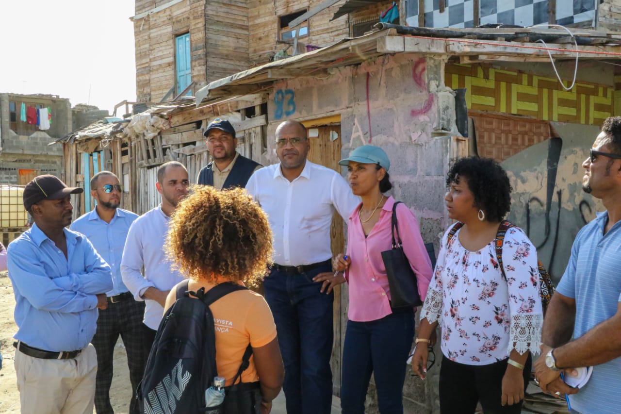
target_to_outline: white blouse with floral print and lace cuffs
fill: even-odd
[[[476,252],[461,246],[460,230],[440,254],[420,319],[440,321],[442,352],[451,361],[486,365],[512,349],[538,352],[543,324],[537,251],[522,229],[507,230],[502,245],[506,280],[492,240]]]

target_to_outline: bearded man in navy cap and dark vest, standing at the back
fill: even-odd
[[[211,185],[218,190],[230,187],[243,188],[252,173],[263,167],[235,150],[237,147],[235,129],[226,119],[214,119],[203,135],[207,138],[207,150],[214,160],[198,173],[196,179],[198,184]]]

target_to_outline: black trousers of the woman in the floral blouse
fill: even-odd
[[[508,358],[507,358],[508,359]],[[485,414],[519,414],[522,402],[501,405],[502,377],[507,359],[489,365],[466,365],[453,362],[446,356],[440,368],[440,412],[442,414],[472,414],[481,401]],[[524,364],[524,390],[528,386],[532,357]]]

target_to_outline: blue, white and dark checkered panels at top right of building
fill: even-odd
[[[419,10],[416,0],[408,0],[407,24],[417,26]],[[473,27],[472,0],[446,0],[440,13],[440,0],[425,0],[425,27]],[[548,0],[481,0],[481,24],[514,24],[524,27],[548,22]],[[593,0],[556,0],[556,24],[567,25],[592,21]]]

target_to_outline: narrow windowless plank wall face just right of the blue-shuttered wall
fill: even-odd
[[[205,8],[207,82],[250,68],[248,1],[212,0]],[[194,73],[194,67],[193,67]]]

